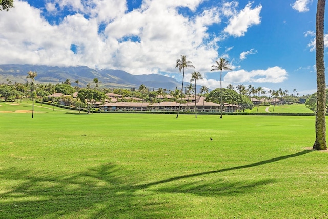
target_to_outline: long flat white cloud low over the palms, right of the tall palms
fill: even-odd
[[[231,71],[224,76],[224,81],[232,84],[237,83],[279,83],[287,79],[287,71],[278,66],[268,68],[267,70],[253,71]]]

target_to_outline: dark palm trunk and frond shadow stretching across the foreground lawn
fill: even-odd
[[[141,179],[111,163],[72,174],[5,169],[0,171],[0,218],[166,218],[168,212],[181,211],[185,206],[172,204],[170,196],[163,193],[210,197],[235,195],[274,182],[272,179],[224,182],[220,179],[213,181],[213,178],[210,181],[206,178],[187,181],[187,178],[251,168],[311,151],[139,185],[136,181]],[[173,181],[176,181],[175,185],[165,184]],[[160,187],[152,188],[154,185]]]

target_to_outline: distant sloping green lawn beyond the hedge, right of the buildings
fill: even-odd
[[[267,110],[274,113],[313,113],[313,111],[307,108],[305,104],[255,106],[252,110],[245,110],[245,112],[268,113]]]

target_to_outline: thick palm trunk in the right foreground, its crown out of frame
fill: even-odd
[[[316,14],[316,66],[317,66],[317,112],[316,140],[313,149],[326,150],[326,120],[325,120],[325,73],[324,73],[324,7],[325,0],[318,0]]]

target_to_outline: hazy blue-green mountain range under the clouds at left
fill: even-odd
[[[75,81],[78,80],[79,87],[86,87],[89,83],[93,87],[95,85],[93,79],[98,78],[98,81],[101,82],[99,83],[100,88],[138,89],[141,84],[151,89],[174,90],[176,87],[179,89],[181,87],[181,82],[160,74],[132,75],[114,69],[95,70],[87,66],[58,67],[45,65],[0,65],[0,83],[8,83],[9,81],[11,83],[26,83],[26,76],[29,71],[37,72],[35,83],[38,84],[61,84],[69,79],[72,86],[76,86]]]

